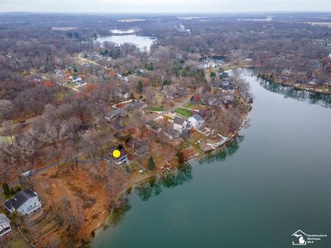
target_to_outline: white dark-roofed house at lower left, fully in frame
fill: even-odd
[[[14,196],[11,200],[3,204],[10,213],[18,211],[19,214],[34,214],[37,210],[41,209],[41,203],[38,198],[37,192],[31,189],[22,190]]]

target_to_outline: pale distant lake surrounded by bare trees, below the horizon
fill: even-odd
[[[142,37],[137,34],[128,34],[128,35],[113,35],[107,37],[98,37],[96,41],[103,43],[104,41],[111,41],[117,43],[117,45],[122,45],[123,43],[134,43],[138,48],[147,48],[150,50],[150,45],[152,45],[153,41],[157,39],[154,37]]]

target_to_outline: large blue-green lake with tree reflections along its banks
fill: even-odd
[[[329,236],[309,247],[331,247],[330,99],[244,72],[255,96],[250,127],[133,188],[92,247],[283,248],[298,229]]]

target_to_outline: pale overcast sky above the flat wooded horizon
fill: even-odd
[[[0,0],[0,12],[327,11],[331,0]]]

